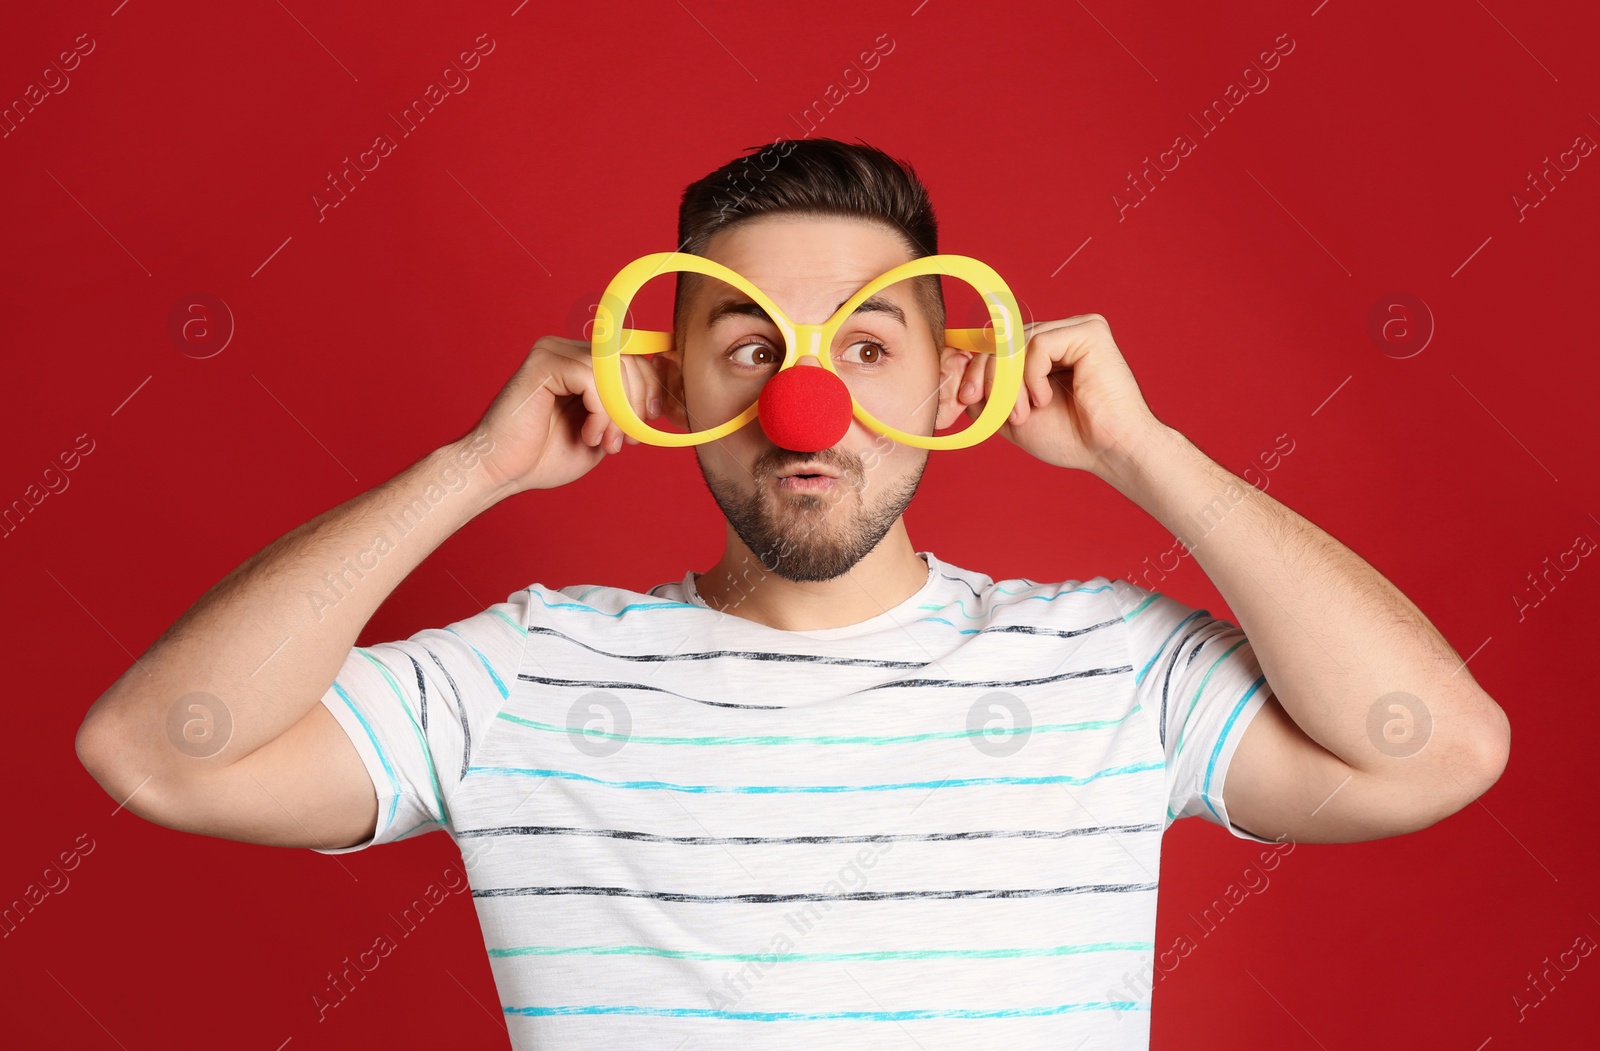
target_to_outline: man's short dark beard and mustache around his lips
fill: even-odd
[[[704,461],[698,456],[694,459],[699,462],[701,477],[706,478],[706,488],[722,507],[728,525],[762,566],[787,581],[803,582],[843,576],[872,552],[910,506],[922,483],[922,472],[928,466],[928,456],[923,453],[914,475],[878,496],[872,506],[864,506],[861,491],[866,486],[866,470],[858,456],[827,451],[805,456],[789,450],[771,450],[755,461],[755,490],[749,494],[741,494],[738,486],[728,482],[712,478]],[[819,461],[838,470],[834,488],[821,493],[776,494],[771,478],[806,461]],[[834,504],[843,507],[834,509]],[[846,512],[845,520],[829,522],[838,512]]]

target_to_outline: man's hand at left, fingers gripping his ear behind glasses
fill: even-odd
[[[654,366],[622,355],[622,387],[640,419],[661,416],[669,397]],[[654,405],[654,408],[651,408]],[[600,403],[589,342],[544,336],[496,395],[475,434],[488,434],[483,464],[496,490],[554,490],[574,482],[622,445],[638,445],[611,422]]]

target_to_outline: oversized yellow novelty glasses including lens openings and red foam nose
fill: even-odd
[[[707,346],[714,354],[709,362],[718,370],[709,397],[696,395],[690,429],[682,432],[640,419],[624,392],[621,358],[672,349],[670,288],[678,274],[702,275],[701,285],[709,286],[701,290],[699,302],[709,307]],[[950,434],[922,434],[933,429],[928,406],[930,400],[938,403],[939,394],[938,357],[928,357],[938,349],[930,349],[930,333],[918,320],[914,280],[928,275],[949,278],[947,317],[979,322],[973,328],[946,328],[944,344],[995,355],[982,411],[968,427]],[[968,306],[949,309],[950,293],[960,293],[954,298]],[[766,360],[754,360],[758,355]],[[794,368],[806,355],[821,368]],[[760,416],[773,443],[792,450],[832,446],[845,437],[851,419],[915,448],[960,450],[990,437],[1016,405],[1022,387],[1022,322],[1000,275],[968,256],[904,262],[869,282],[821,325],[800,325],[720,262],[666,251],[642,256],[611,278],[595,310],[592,360],[600,402],[611,421],[646,445],[714,442]]]

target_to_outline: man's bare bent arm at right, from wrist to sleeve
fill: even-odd
[[[1373,840],[1424,829],[1494,784],[1506,713],[1360,555],[1154,418],[1096,474],[1184,541],[1272,688],[1227,769],[1235,825]]]

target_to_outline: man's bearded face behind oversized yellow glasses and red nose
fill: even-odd
[[[867,282],[910,259],[886,226],[794,216],[747,219],[717,234],[702,254],[744,275],[800,325],[826,322]],[[931,435],[960,413],[955,382],[965,355],[942,339],[934,342],[914,282],[869,302],[877,299],[880,309],[858,310],[845,322],[835,352],[845,350],[835,366],[840,373],[858,368],[851,390],[870,397],[878,419]],[[664,411],[680,427],[690,429],[685,419],[693,419],[693,429],[704,429],[707,421],[744,411],[784,357],[778,326],[754,310],[728,310],[730,302],[749,299],[722,282],[696,280],[678,317],[682,350],[656,355],[669,390]],[[890,354],[856,342],[869,338],[888,344]],[[867,358],[875,360],[875,371],[862,366]],[[819,366],[816,358],[795,365]],[[770,571],[790,581],[834,579],[877,547],[910,504],[928,462],[928,450],[893,442],[854,419],[838,443],[818,453],[774,445],[760,419],[694,453],[734,533]],[[806,464],[838,477],[813,482],[813,488],[782,480]]]

